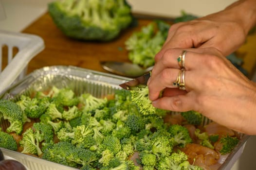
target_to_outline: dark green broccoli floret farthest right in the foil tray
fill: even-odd
[[[237,146],[239,139],[237,137],[232,136],[223,136],[220,138],[220,143],[222,144],[219,153],[224,155],[227,153],[231,153],[231,151]]]

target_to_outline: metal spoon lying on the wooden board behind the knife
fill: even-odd
[[[101,66],[110,71],[111,73],[118,74],[125,77],[135,78],[139,77],[146,72],[152,70],[153,66],[149,68],[142,68],[139,65],[128,63],[128,62],[117,62],[117,61],[102,61]]]

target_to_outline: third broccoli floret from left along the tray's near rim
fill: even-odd
[[[77,153],[75,146],[70,142],[60,141],[45,149],[42,158],[62,165],[77,167],[77,163],[67,159],[68,157],[70,158],[70,155],[73,153]]]

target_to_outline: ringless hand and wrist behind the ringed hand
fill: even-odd
[[[217,13],[173,24],[156,62],[168,48],[218,49],[227,56],[237,50],[256,25],[256,0],[238,0]]]

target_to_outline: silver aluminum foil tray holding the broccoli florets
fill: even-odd
[[[70,87],[76,95],[84,92],[91,93],[95,97],[103,97],[112,94],[115,89],[121,88],[119,84],[130,80],[126,77],[116,76],[109,73],[93,71],[73,66],[52,66],[44,67],[30,73],[23,80],[11,85],[0,93],[0,99],[18,99],[21,94],[32,95],[37,91],[47,90],[55,85],[58,88]],[[0,115],[0,120],[2,120]],[[204,123],[209,122],[204,118]],[[1,126],[7,127],[4,121]],[[241,134],[238,146],[226,158],[219,170],[230,170],[239,156],[249,136]],[[6,149],[2,152],[28,167],[29,170],[76,170],[71,167],[50,162],[35,156],[18,153]]]

